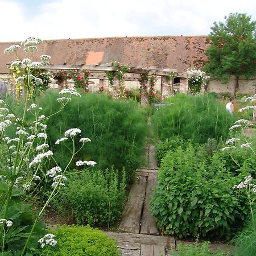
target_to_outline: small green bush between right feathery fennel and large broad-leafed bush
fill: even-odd
[[[174,151],[177,147],[185,149],[191,143],[193,143],[191,139],[185,140],[181,135],[173,135],[170,138],[164,139],[164,141],[160,141],[156,144],[157,151],[155,153],[158,166],[160,166],[161,160],[169,150]]]

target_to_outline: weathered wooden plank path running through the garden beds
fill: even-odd
[[[155,218],[150,216],[150,197],[157,185],[158,167],[155,162],[155,146],[148,144],[146,166],[137,170],[134,184],[131,186],[126,210],[123,213],[119,232],[105,232],[118,241],[121,256],[172,256],[171,250],[180,243],[174,237],[160,236]],[[221,248],[232,255],[233,246],[211,243],[212,249]]]

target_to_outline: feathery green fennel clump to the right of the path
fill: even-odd
[[[161,141],[179,134],[200,143],[228,136],[233,117],[213,97],[177,94],[166,101],[171,105],[159,108],[151,118],[155,136]]]

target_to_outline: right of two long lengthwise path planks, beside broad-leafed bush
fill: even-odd
[[[150,200],[153,189],[156,187],[157,174],[151,173],[147,177],[146,197],[144,201],[143,214],[141,220],[141,234],[154,234],[158,235],[159,230],[156,226],[155,217],[150,215]]]

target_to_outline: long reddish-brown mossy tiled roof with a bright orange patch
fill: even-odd
[[[3,51],[17,42],[0,43],[0,73],[7,73],[6,64],[14,55]],[[131,66],[177,69],[202,68],[207,60],[208,36],[151,36],[125,38],[46,40],[35,54],[52,57],[51,64],[95,64],[119,61]],[[20,50],[20,57],[26,55]],[[26,56],[27,57],[27,56]]]

